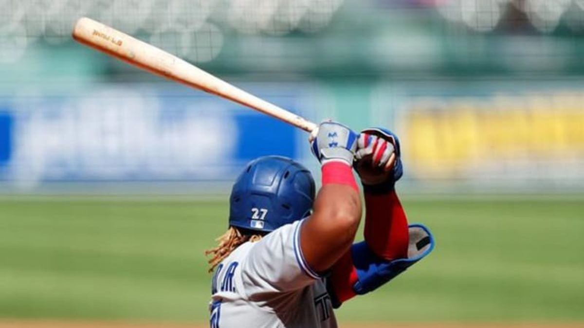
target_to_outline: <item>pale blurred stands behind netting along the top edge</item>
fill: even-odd
[[[345,39],[343,33],[357,37],[361,32],[350,27],[356,22],[377,25],[367,33],[382,32],[390,20],[407,28],[411,22],[399,19],[404,13],[437,13],[441,26],[481,33],[584,29],[583,0],[2,0],[0,8],[1,62],[18,61],[38,40],[70,41],[80,16],[138,34],[196,62],[217,57],[232,34],[312,34],[336,21],[335,35]]]

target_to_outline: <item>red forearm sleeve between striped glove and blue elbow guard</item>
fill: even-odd
[[[377,256],[394,260],[408,257],[408,218],[395,190],[365,193],[365,241]]]

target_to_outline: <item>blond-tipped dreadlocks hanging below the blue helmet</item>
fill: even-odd
[[[213,270],[215,270],[215,267],[242,243],[258,242],[264,235],[265,233],[259,231],[252,231],[230,226],[223,235],[215,239],[217,242],[219,242],[219,244],[216,247],[205,251],[205,256],[211,256],[211,258],[207,261],[207,263],[210,265],[208,272],[212,273]]]

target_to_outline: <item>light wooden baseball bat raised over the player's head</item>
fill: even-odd
[[[72,36],[79,43],[146,71],[261,111],[312,134],[317,131],[317,124],[251,95],[175,55],[95,20],[80,18],[75,23]]]

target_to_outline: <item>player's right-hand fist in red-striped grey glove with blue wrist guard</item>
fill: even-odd
[[[367,128],[357,141],[355,169],[364,186],[393,189],[404,171],[400,158],[399,139],[390,130]]]

